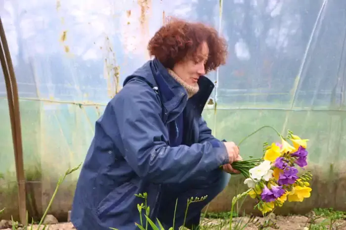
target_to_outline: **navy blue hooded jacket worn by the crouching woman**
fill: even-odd
[[[198,84],[188,99],[157,59],[126,78],[95,124],[72,205],[77,230],[137,229],[143,199],[134,194],[147,192],[154,221],[162,184],[183,183],[228,163],[225,145],[201,116],[214,84],[205,76]],[[181,136],[177,127],[183,127]],[[182,144],[172,146],[178,137]]]

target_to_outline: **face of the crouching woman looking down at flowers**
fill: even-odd
[[[209,47],[206,42],[202,43],[197,53],[197,60],[186,59],[176,63],[173,67],[184,82],[190,86],[196,86],[201,75],[205,75],[205,64],[209,56]]]

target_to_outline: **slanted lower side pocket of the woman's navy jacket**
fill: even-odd
[[[96,215],[100,220],[105,218],[109,214],[115,214],[120,210],[126,210],[128,207],[122,207],[122,203],[131,196],[134,196],[134,192],[137,190],[137,186],[131,182],[126,182],[114,190],[112,190],[106,197],[104,197],[96,208]]]

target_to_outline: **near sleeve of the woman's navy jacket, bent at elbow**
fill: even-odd
[[[170,147],[163,138],[167,131],[156,93],[138,84],[123,88],[106,106],[100,122],[139,177],[157,184],[181,183],[229,162],[221,141]]]

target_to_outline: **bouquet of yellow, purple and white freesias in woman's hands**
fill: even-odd
[[[307,171],[298,176],[297,169],[298,166],[303,168],[307,165],[308,139],[301,139],[291,131],[288,131],[286,138],[277,134],[281,143],[264,143],[262,158],[232,164],[234,169],[246,177],[244,184],[250,188],[247,193],[257,200],[255,208],[262,214],[273,210],[275,206],[281,207],[286,200],[302,202],[304,198],[310,197],[312,190],[309,187],[311,173]]]

